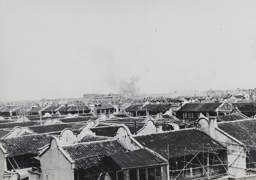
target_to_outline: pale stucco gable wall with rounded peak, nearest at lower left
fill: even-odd
[[[51,141],[51,147],[40,157],[41,180],[74,180],[72,163],[58,149],[56,140]]]

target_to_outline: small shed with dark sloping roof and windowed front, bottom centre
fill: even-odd
[[[103,159],[111,180],[167,180],[168,162],[156,152],[143,148]]]

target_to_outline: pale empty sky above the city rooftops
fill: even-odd
[[[255,0],[0,0],[0,101],[256,88]]]

